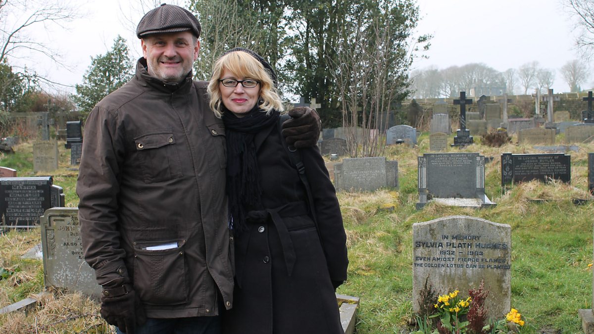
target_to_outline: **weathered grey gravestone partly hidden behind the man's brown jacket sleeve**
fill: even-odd
[[[54,207],[41,217],[43,281],[46,288],[66,288],[99,297],[101,286],[84,261],[75,207]]]

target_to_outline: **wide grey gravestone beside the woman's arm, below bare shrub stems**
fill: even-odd
[[[343,159],[334,165],[334,186],[346,191],[398,188],[398,162],[383,156]]]

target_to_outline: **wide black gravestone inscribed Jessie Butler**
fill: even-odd
[[[517,182],[558,179],[571,182],[571,156],[563,153],[501,155],[501,188]]]

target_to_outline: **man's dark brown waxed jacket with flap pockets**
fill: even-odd
[[[147,317],[232,307],[225,130],[206,86],[191,74],[160,81],[141,58],[85,124],[77,181],[84,256],[103,286],[129,278]]]

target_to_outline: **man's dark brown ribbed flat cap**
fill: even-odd
[[[149,34],[175,33],[190,30],[196,37],[200,37],[200,22],[184,8],[176,5],[162,4],[147,12],[138,23],[136,36],[145,37]]]

